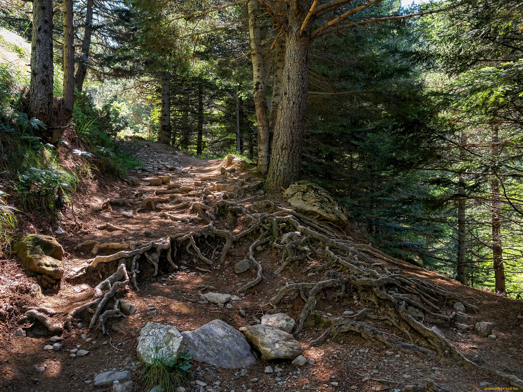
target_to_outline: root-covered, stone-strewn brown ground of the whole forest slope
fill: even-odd
[[[232,337],[237,349],[230,355],[223,354],[223,358],[216,355],[209,359],[215,362],[213,365],[191,359],[191,383],[185,385],[187,390],[474,391],[520,385],[521,302],[464,287],[366,248],[367,241],[350,225],[342,230],[326,223],[320,215],[300,215],[295,211],[294,218],[292,214],[284,216],[292,211],[292,206],[282,194],[260,191],[259,181],[263,179],[242,163],[236,162],[237,170],[232,171],[234,163],[226,160],[199,159],[164,144],[141,143],[143,148],[138,155],[144,167],[129,172],[129,183],[86,181],[73,211],[63,212],[62,220],[54,226],[30,213],[23,215],[24,235],[52,235],[63,247],[64,278],[52,279],[50,275],[30,271],[16,254],[0,261],[0,316],[7,320],[0,335],[3,390],[109,391],[115,379],[121,384],[114,387],[115,391],[149,390],[151,386],[140,384],[137,352],[138,338],[147,322],[173,326],[182,335],[194,337],[198,328],[211,321],[217,324],[213,320],[221,320],[220,333]],[[229,171],[222,172],[222,167]],[[152,185],[157,181],[152,178],[159,177],[164,178],[164,183]],[[292,228],[293,219],[300,222],[300,229]],[[278,246],[264,241],[264,233],[269,233],[271,227],[267,222],[279,225]],[[211,232],[209,223],[218,232]],[[254,225],[258,225],[256,230],[245,233]],[[325,227],[331,234],[326,235]],[[309,241],[300,242],[301,237],[289,235],[285,241],[285,233],[295,229],[323,233],[327,238],[324,242],[334,239],[338,246],[350,244],[356,248],[351,248],[355,249],[352,252],[336,251],[337,255],[329,257],[329,249],[322,249],[325,243],[320,246],[320,237],[314,233]],[[223,254],[224,247],[228,247],[225,232],[236,239]],[[144,244],[151,241],[153,245],[143,250]],[[106,243],[112,245],[99,246]],[[130,253],[124,255],[127,259],[111,257],[117,251],[131,252],[131,248],[126,248],[131,243],[141,252],[136,260]],[[169,244],[168,249],[162,248],[165,244]],[[100,249],[94,255],[92,249],[96,246]],[[290,252],[283,257],[287,263],[283,269],[282,251]],[[259,262],[259,269],[253,258],[237,265],[249,259],[249,252]],[[98,264],[93,267],[96,260]],[[124,317],[108,317],[103,323],[96,318],[89,329],[96,310],[86,308],[70,319],[70,329],[63,328],[67,327],[64,322],[68,314],[97,298],[93,290],[101,281],[115,276],[122,260],[127,264],[129,283],[123,284],[124,276],[119,277],[117,281],[122,286],[108,297],[108,307],[104,309],[112,309],[118,299]],[[130,265],[132,260],[134,268]],[[250,268],[241,272],[249,264]],[[356,280],[359,269],[365,274]],[[393,280],[402,285],[394,287]],[[318,282],[327,281],[330,286],[322,286],[311,296],[309,291]],[[376,287],[383,291],[374,287],[376,296],[370,289],[365,291],[364,281],[379,281]],[[115,282],[111,284],[116,286]],[[447,297],[431,296],[421,290],[436,290],[436,285]],[[39,287],[43,288],[41,298]],[[339,287],[342,289],[338,291]],[[406,294],[408,290],[411,294]],[[106,293],[107,290],[103,295]],[[455,293],[456,297],[447,293]],[[431,303],[433,311],[422,312],[419,306],[402,309],[401,299],[414,307],[416,301],[426,307]],[[396,305],[386,305],[386,301]],[[306,317],[304,306],[310,307]],[[30,307],[38,315],[45,315],[45,320],[35,321],[36,313],[27,313],[31,312]],[[119,310],[115,312],[113,315],[119,316]],[[278,328],[264,329],[267,324],[260,322],[271,324],[271,315],[278,312],[290,317],[273,320],[272,325]],[[482,334],[473,327],[479,322],[495,326]],[[106,333],[98,328],[101,324]],[[53,326],[58,326],[55,333],[50,332]],[[488,329],[488,325],[483,327]],[[217,333],[216,328],[212,333]],[[279,328],[287,329],[293,336],[285,335]],[[212,336],[218,343],[231,341],[212,333],[205,336]],[[246,341],[243,334],[251,344],[247,349],[242,345]],[[277,337],[271,340],[267,337],[271,334]],[[53,338],[55,335],[58,338]],[[285,347],[275,348],[275,342]],[[252,359],[252,355],[256,358]],[[270,355],[280,358],[268,358]],[[287,358],[281,358],[286,355]],[[217,363],[226,359],[236,361],[233,362],[237,367],[226,368],[227,363]],[[110,371],[122,373],[107,374]]]

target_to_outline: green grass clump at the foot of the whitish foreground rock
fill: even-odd
[[[178,360],[167,361],[160,357],[153,358],[151,363],[140,363],[143,368],[141,384],[146,390],[159,385],[165,389],[165,392],[175,392],[177,387],[188,384],[187,371],[191,367],[188,360],[191,358],[192,355],[185,350],[185,353],[179,354]]]

